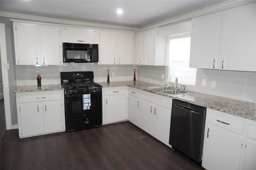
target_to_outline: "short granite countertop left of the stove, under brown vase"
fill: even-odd
[[[64,88],[60,84],[49,84],[38,86],[17,86],[13,93],[18,92],[41,92],[41,91],[52,91],[52,90],[63,90]]]

